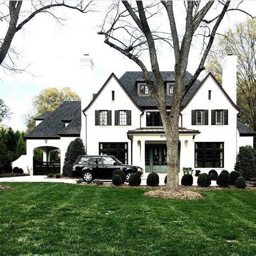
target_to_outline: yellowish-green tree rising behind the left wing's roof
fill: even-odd
[[[27,132],[33,130],[36,126],[34,117],[40,116],[45,112],[54,111],[65,100],[80,100],[76,92],[69,87],[58,90],[55,87],[42,90],[33,99],[33,111],[25,117]]]

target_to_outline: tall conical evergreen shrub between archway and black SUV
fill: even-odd
[[[65,154],[64,166],[63,166],[63,174],[71,176],[73,164],[77,160],[79,156],[85,154],[85,148],[82,139],[77,138],[73,140],[69,146],[68,150]]]

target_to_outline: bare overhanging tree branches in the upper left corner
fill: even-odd
[[[40,14],[50,15],[58,22],[61,22],[62,18],[57,17],[53,12],[55,8],[63,7],[87,13],[93,11],[92,6],[94,5],[92,1],[82,0],[69,3],[57,0],[31,1],[31,8],[27,8],[28,6],[24,6],[24,4],[25,2],[22,0],[4,1],[0,3],[1,26],[6,26],[6,30],[1,29],[1,33],[3,34],[0,35],[0,65],[3,66],[4,69],[16,72],[21,70],[16,67],[15,58],[18,57],[18,53],[11,47],[11,43],[15,34],[21,30],[25,24],[31,22],[35,16]]]

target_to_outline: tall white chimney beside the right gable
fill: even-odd
[[[222,86],[237,104],[237,56],[228,54],[222,62]]]

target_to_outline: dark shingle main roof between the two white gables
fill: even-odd
[[[156,80],[154,79],[153,72],[149,72],[149,73],[150,73],[150,77],[153,81],[153,84],[155,86],[157,86]],[[161,75],[165,82],[175,80],[175,72],[174,71],[161,71]],[[142,76],[143,76],[143,72],[141,72],[141,71],[134,71],[134,72],[129,71],[129,72],[125,72],[124,75],[122,77],[120,77],[119,80],[122,83],[122,85],[125,87],[127,92],[129,93],[131,98],[133,98],[135,100],[135,102],[140,107],[142,107],[142,108],[156,107],[156,103],[154,103],[154,100],[152,97],[150,97],[150,96],[143,97],[143,96],[138,95],[136,81],[142,82],[144,80]],[[192,77],[191,73],[186,72],[184,83],[187,84],[189,82],[189,80],[191,79],[191,77]],[[196,80],[196,82],[192,85],[190,90],[188,90],[188,92],[186,93],[186,95],[183,99],[183,102],[181,104],[182,106],[184,106],[186,104],[188,99],[190,99],[193,92],[196,91],[196,89],[199,85],[200,85],[200,81]],[[166,103],[167,103],[167,106],[171,106],[172,96],[169,96],[169,95],[166,96]]]

